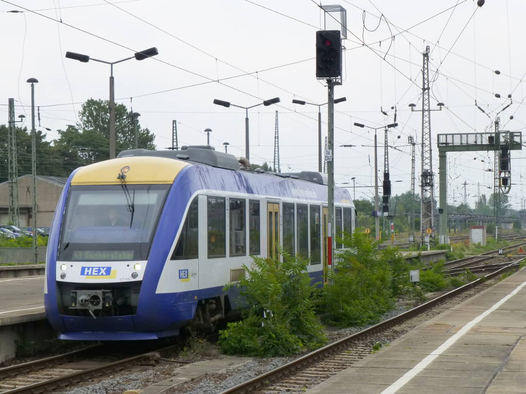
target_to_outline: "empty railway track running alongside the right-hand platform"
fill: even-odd
[[[381,343],[390,342],[419,324],[426,322],[463,300],[490,287],[501,273],[517,267],[523,258],[508,263],[476,281],[458,287],[449,293],[369,327],[359,333],[342,338],[281,367],[260,375],[220,394],[245,393],[303,393],[306,389],[336,375],[370,354]],[[494,279],[493,281],[489,279]]]

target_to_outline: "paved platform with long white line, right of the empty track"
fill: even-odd
[[[526,269],[307,394],[526,393]]]

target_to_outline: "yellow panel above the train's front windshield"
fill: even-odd
[[[122,169],[125,169],[123,172],[129,184],[173,183],[177,174],[187,165],[180,160],[146,156],[106,160],[80,168],[71,184],[120,184],[117,177]]]

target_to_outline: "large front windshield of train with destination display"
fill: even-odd
[[[169,186],[72,186],[60,234],[58,259],[146,260]]]

